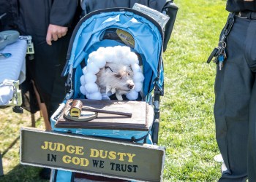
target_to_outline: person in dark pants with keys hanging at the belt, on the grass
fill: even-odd
[[[227,0],[226,9],[234,23],[215,80],[219,181],[256,181],[256,1]]]

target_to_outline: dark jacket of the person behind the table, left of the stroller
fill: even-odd
[[[12,29],[34,40],[45,39],[49,24],[71,28],[77,5],[76,0],[1,0],[0,31]]]

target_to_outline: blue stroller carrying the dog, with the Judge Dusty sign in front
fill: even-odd
[[[165,28],[154,18],[131,9],[135,3],[163,12],[170,17]],[[72,34],[67,53],[67,64],[63,75],[67,76],[67,95],[57,111],[51,116],[53,131],[71,132],[78,135],[102,137],[118,141],[157,144],[159,132],[159,98],[164,94],[164,68],[162,52],[173,29],[178,7],[171,0],[140,0],[140,1],[81,1],[83,18]],[[114,8],[113,8],[114,7]],[[116,30],[127,35],[131,41],[116,36]],[[123,37],[124,38],[124,37]],[[80,77],[83,69],[88,66],[89,55],[100,47],[127,46],[136,52],[144,76],[143,87],[135,102],[145,102],[152,113],[148,120],[148,130],[116,130],[108,128],[58,127],[57,121],[68,100],[88,99],[81,90]],[[111,99],[116,99],[110,96]],[[124,97],[124,100],[127,100]],[[90,101],[91,102],[91,101]],[[99,102],[99,100],[97,100]],[[76,174],[66,170],[52,170],[50,181],[79,181]],[[78,174],[77,174],[78,176]],[[97,178],[97,175],[84,175],[87,181],[122,181],[116,178]],[[86,180],[84,180],[86,181]]]

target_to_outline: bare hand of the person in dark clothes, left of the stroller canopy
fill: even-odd
[[[66,34],[67,34],[67,27],[50,24],[48,26],[46,42],[47,44],[51,45],[51,41],[56,41],[62,36],[65,36]]]

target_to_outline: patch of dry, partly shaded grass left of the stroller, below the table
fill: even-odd
[[[36,127],[44,129],[43,120],[39,113],[35,114]],[[0,181],[42,181],[39,172],[42,168],[20,165],[19,134],[20,127],[31,126],[31,114],[24,110],[23,114],[12,112],[12,107],[0,109],[0,151],[4,176]]]

